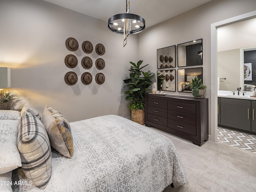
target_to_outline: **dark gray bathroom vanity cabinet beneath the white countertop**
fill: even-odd
[[[256,132],[256,101],[233,98],[218,98],[218,125]]]

